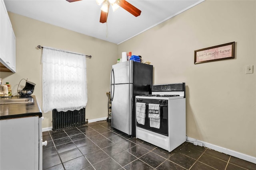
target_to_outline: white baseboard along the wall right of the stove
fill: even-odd
[[[216,150],[218,152],[222,152],[222,153],[234,156],[236,158],[240,158],[242,160],[246,160],[248,162],[252,162],[252,163],[256,164],[256,157],[253,157],[253,156],[250,156],[250,155],[247,155],[247,154],[243,154],[243,153],[240,153],[240,152],[236,152],[234,150],[226,149],[226,148],[223,148],[223,147],[219,147],[217,145],[213,145],[213,144],[210,144],[210,143],[207,143],[207,142],[204,142],[204,141],[199,141],[199,140],[191,138],[191,137],[188,137],[187,141],[190,142],[190,143],[200,142],[200,143],[203,144],[204,147],[207,147],[207,148],[210,148],[212,150]]]

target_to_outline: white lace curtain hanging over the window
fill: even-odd
[[[86,56],[43,48],[43,111],[79,110],[87,104]]]

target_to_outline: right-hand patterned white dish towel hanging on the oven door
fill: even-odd
[[[148,117],[150,127],[160,128],[160,109],[159,104],[148,104]]]

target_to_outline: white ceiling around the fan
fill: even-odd
[[[106,40],[122,43],[203,0],[126,0],[142,12],[135,17],[123,8],[110,7],[107,23],[100,23],[95,0],[4,0],[8,11]],[[108,35],[108,36],[107,36]]]

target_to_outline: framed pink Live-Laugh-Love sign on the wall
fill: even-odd
[[[195,50],[194,64],[235,58],[235,42]]]

